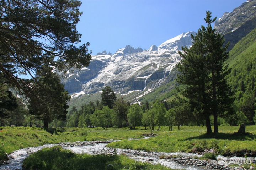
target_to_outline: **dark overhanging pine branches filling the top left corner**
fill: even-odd
[[[20,93],[32,93],[26,88],[30,82],[16,72],[36,80],[34,73],[45,64],[61,71],[89,64],[89,43],[73,45],[81,38],[76,30],[82,14],[80,5],[77,0],[0,1],[0,73],[5,75],[6,83]]]

